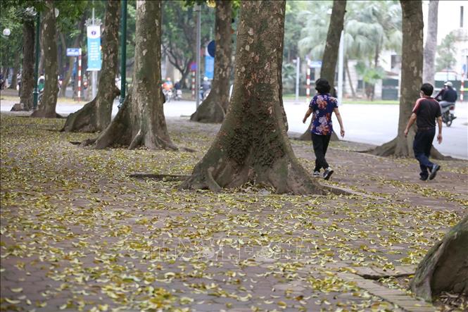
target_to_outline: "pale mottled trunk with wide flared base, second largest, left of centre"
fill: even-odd
[[[94,142],[96,149],[176,149],[163,112],[161,85],[161,1],[137,1],[132,89],[117,116]],[[87,144],[85,142],[84,144]]]

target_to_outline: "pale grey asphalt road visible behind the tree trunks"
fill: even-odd
[[[84,104],[84,103],[83,103]],[[60,114],[73,113],[83,104],[59,101],[56,111]],[[113,107],[113,116],[118,111],[118,101]],[[10,111],[13,101],[1,101],[1,111]],[[305,102],[296,104],[295,101],[284,101],[284,109],[289,122],[289,131],[303,133],[307,129],[302,123],[308,105]],[[170,101],[164,106],[167,117],[190,116],[196,109],[195,101]],[[343,104],[340,106],[346,136],[344,139],[368,144],[383,144],[397,135],[398,105],[379,104]],[[468,159],[468,103],[457,103],[455,108],[457,119],[451,127],[443,127],[443,142],[434,146],[441,153],[456,158]],[[339,130],[339,123],[334,117],[334,125]]]

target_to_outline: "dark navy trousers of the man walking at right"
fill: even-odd
[[[429,176],[429,172],[432,170],[434,163],[429,161],[429,155],[431,154],[432,141],[436,135],[436,128],[430,129],[418,129],[415,135],[415,141],[413,142],[413,151],[415,151],[415,158],[419,161],[419,168],[421,168],[421,177],[426,179]]]

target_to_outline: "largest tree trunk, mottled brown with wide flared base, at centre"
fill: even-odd
[[[182,189],[239,187],[322,194],[294,156],[282,101],[285,1],[241,1],[234,91],[207,154]]]

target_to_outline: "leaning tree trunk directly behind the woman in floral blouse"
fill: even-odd
[[[331,10],[331,18],[328,26],[327,42],[322,56],[322,68],[320,68],[320,78],[328,80],[331,90],[335,86],[336,61],[338,61],[338,51],[340,49],[341,31],[343,30],[346,13],[346,0],[334,0]],[[310,120],[307,130],[299,137],[302,141],[310,141],[310,128],[313,120]],[[335,132],[331,133],[331,141],[338,141]]]

